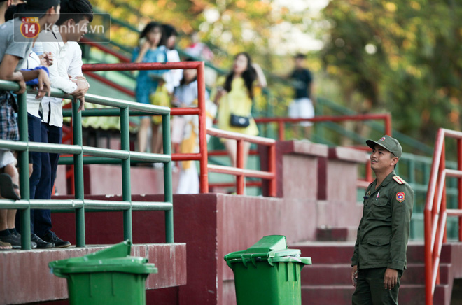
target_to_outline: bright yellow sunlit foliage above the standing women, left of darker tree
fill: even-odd
[[[272,0],[94,0],[94,6],[112,17],[141,29],[151,20],[174,25],[181,34],[200,31],[203,41],[216,46],[217,64],[228,64],[227,54],[246,51],[272,66],[276,51],[270,46],[273,29],[279,24],[300,24],[306,29],[303,12],[290,13]],[[137,36],[123,27],[111,28],[113,41],[137,43]],[[187,38],[180,46],[189,43]],[[223,50],[223,52],[220,52]]]

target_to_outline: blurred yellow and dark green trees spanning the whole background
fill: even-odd
[[[92,0],[136,29],[151,20],[174,25],[181,48],[200,31],[214,64],[226,71],[233,55],[249,52],[273,74],[267,76],[276,93],[267,103],[275,115],[286,115],[292,99],[277,76],[287,76],[292,55],[306,51],[298,47],[306,39],[293,34],[311,33],[319,41],[308,66],[319,95],[359,113],[391,112],[395,129],[431,146],[438,127],[461,129],[461,1],[321,2],[328,4],[315,16],[307,0]],[[134,46],[137,38],[111,27],[113,41]]]

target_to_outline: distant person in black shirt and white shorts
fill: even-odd
[[[290,118],[314,118],[314,99],[313,94],[313,76],[311,72],[304,68],[305,55],[295,55],[295,69],[290,75],[293,80],[295,99],[288,107],[288,115]],[[303,138],[309,139],[311,136],[312,122],[300,122],[303,127]],[[298,127],[294,128],[294,137],[298,138]]]

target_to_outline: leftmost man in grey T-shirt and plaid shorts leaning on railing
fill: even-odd
[[[38,17],[38,24],[43,29],[54,24],[59,17],[59,0],[29,0],[25,6],[25,13],[28,17]],[[45,94],[50,94],[50,80],[43,70],[19,71],[25,58],[29,56],[34,39],[26,38],[21,34],[21,21],[19,18],[9,20],[0,26],[0,79],[18,82],[20,90],[16,94],[26,92],[26,81],[37,78],[38,94],[40,99]],[[18,122],[15,112],[18,111],[18,104],[13,92],[0,90],[0,139],[19,140]],[[8,152],[4,155],[10,155]],[[15,164],[16,160],[8,164]],[[13,174],[14,178],[15,174]],[[2,183],[2,194],[3,194]],[[20,235],[17,234],[14,226],[15,211],[0,212],[0,241],[11,243],[18,248],[20,246]],[[36,246],[32,243],[32,247]]]

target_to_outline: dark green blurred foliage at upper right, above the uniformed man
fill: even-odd
[[[461,128],[460,1],[331,1],[321,19],[321,59],[348,106],[391,111],[395,128],[422,141]]]

